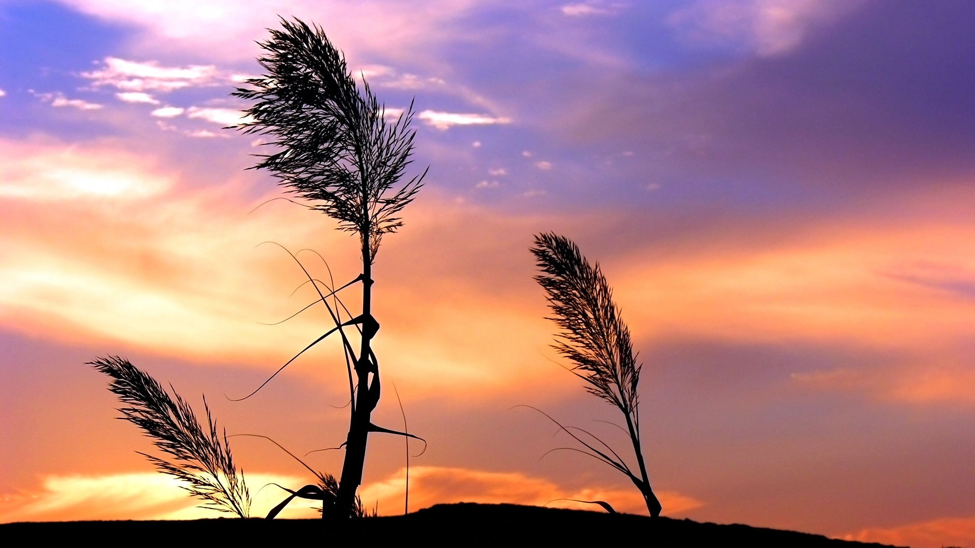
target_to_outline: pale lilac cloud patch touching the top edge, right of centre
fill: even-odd
[[[691,42],[772,57],[799,46],[811,25],[836,20],[862,4],[863,0],[697,0],[671,14],[668,22]]]

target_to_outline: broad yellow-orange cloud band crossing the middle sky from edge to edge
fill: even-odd
[[[195,186],[108,145],[0,142],[0,155],[9,160],[0,168],[10,190],[0,192],[0,325],[7,329],[273,371],[330,322],[312,311],[280,326],[258,324],[288,317],[314,292],[305,286],[289,297],[303,281],[300,270],[280,248],[256,246],[317,249],[338,283],[358,274],[354,239],[325,215],[285,202],[248,215],[260,200],[237,180]],[[62,193],[72,199],[52,208]],[[937,205],[928,209],[936,213]],[[506,215],[426,192],[378,256],[375,346],[384,371],[409,375],[417,394],[470,398],[545,386],[546,397],[558,398],[576,390],[571,375],[553,375],[541,355],[553,326],[543,319],[526,249],[532,233],[552,228],[598,243],[611,222]],[[676,242],[613,256],[592,245],[583,252],[603,262],[638,340],[907,352],[917,363],[884,372],[883,382],[863,371],[796,380],[882,389],[909,402],[967,393],[956,386],[975,380],[958,349],[975,329],[975,260],[965,258],[975,256],[975,225],[933,214],[896,224],[839,219],[771,243],[749,238],[708,249]],[[314,254],[301,257],[316,276],[328,274]],[[311,356],[335,364],[316,374],[343,382],[337,345]],[[844,368],[856,369],[837,369]],[[301,362],[292,369],[303,371]],[[891,383],[898,375],[903,380]]]

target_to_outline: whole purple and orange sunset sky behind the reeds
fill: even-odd
[[[344,440],[336,345],[229,401],[328,329],[315,309],[266,325],[312,300],[282,247],[336,282],[361,266],[327,216],[261,205],[283,189],[247,170],[260,139],[222,129],[279,16],[321,25],[416,113],[411,173],[429,175],[373,274],[404,409],[387,389],[374,421],[405,414],[428,441],[410,511],[645,513],[515,407],[626,443],[549,347],[528,248],[554,231],[601,264],[633,333],[664,515],[975,547],[960,0],[0,0],[0,522],[212,514],[135,452],[150,443],[115,419],[98,356],[206,395],[228,433]],[[270,483],[312,480],[264,440],[231,446],[258,513],[284,497]],[[341,454],[307,462],[337,475]],[[373,435],[364,503],[402,513],[405,466],[401,438]]]

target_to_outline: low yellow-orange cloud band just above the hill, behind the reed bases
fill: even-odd
[[[296,489],[308,483],[292,476],[248,474],[254,497],[252,516],[264,516],[287,496],[280,484]],[[364,486],[363,503],[380,515],[401,514],[406,489],[406,469]],[[569,491],[540,478],[520,473],[484,472],[464,468],[420,466],[409,470],[410,511],[439,503],[483,502],[545,505],[598,510],[592,505],[556,498],[605,500],[619,512],[645,514],[643,498],[636,489],[581,489]],[[261,487],[263,486],[263,487]],[[658,493],[665,514],[681,514],[702,503],[675,493]],[[196,520],[222,514],[201,508],[179,483],[163,474],[133,473],[103,476],[46,476],[41,489],[0,497],[0,523],[77,520]],[[313,518],[313,503],[296,500],[282,513],[284,518]]]

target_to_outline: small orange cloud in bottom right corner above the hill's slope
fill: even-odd
[[[895,528],[865,528],[842,538],[914,548],[971,547],[975,546],[975,518],[942,518]]]

